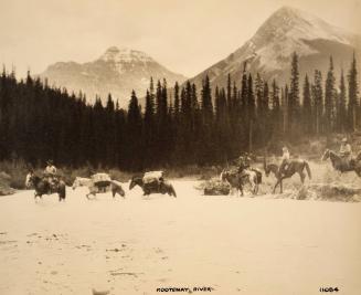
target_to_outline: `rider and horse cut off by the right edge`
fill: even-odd
[[[341,140],[339,155],[330,149],[326,149],[321,159],[323,161],[330,159],[332,167],[341,173],[354,171],[361,177],[361,152],[359,152],[357,157],[353,157],[351,145],[348,143],[347,138]]]

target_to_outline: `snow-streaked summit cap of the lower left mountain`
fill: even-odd
[[[153,62],[153,60],[145,52],[131,50],[128,48],[110,46],[100,56],[102,61],[115,63],[130,63],[130,62]]]

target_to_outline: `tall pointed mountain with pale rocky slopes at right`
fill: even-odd
[[[212,85],[224,86],[227,75],[241,80],[244,62],[247,70],[259,73],[266,81],[276,78],[288,82],[290,60],[294,52],[299,55],[300,78],[321,70],[326,73],[330,55],[336,70],[349,67],[352,53],[361,49],[361,38],[333,27],[323,20],[298,9],[283,7],[273,13],[254,36],[226,59],[212,65],[192,81],[201,85],[208,74]]]

